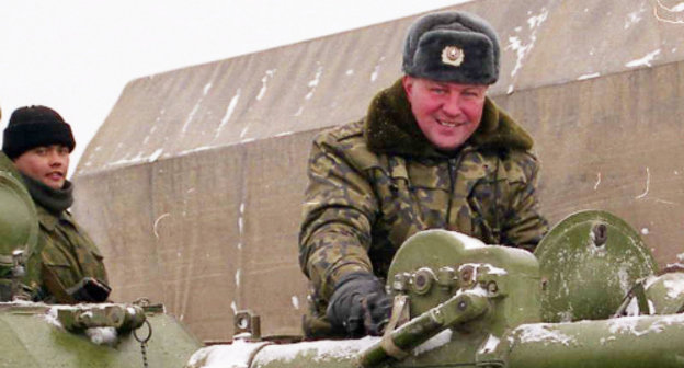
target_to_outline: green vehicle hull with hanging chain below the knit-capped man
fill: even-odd
[[[174,318],[130,304],[2,303],[0,341],[0,367],[31,368],[182,367],[202,346]]]

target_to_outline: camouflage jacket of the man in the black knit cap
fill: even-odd
[[[68,211],[58,216],[36,205],[41,233],[37,246],[26,261],[24,284],[33,292],[34,300],[66,302],[59,300],[61,290],[55,290],[49,278],[58,280],[58,288],[67,289],[89,276],[109,284],[103,257]]]

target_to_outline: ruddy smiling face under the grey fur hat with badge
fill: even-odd
[[[425,137],[443,151],[460,147],[482,118],[488,85],[403,77],[411,111]]]

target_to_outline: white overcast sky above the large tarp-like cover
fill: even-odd
[[[71,124],[71,172],[133,79],[468,0],[21,0],[0,4],[0,107]]]

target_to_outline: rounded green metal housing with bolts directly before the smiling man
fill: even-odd
[[[387,279],[392,292],[409,296],[411,317],[445,302],[459,289],[480,287],[494,290],[494,313],[505,325],[540,321],[539,265],[527,251],[486,245],[453,231],[428,230],[401,245]]]

